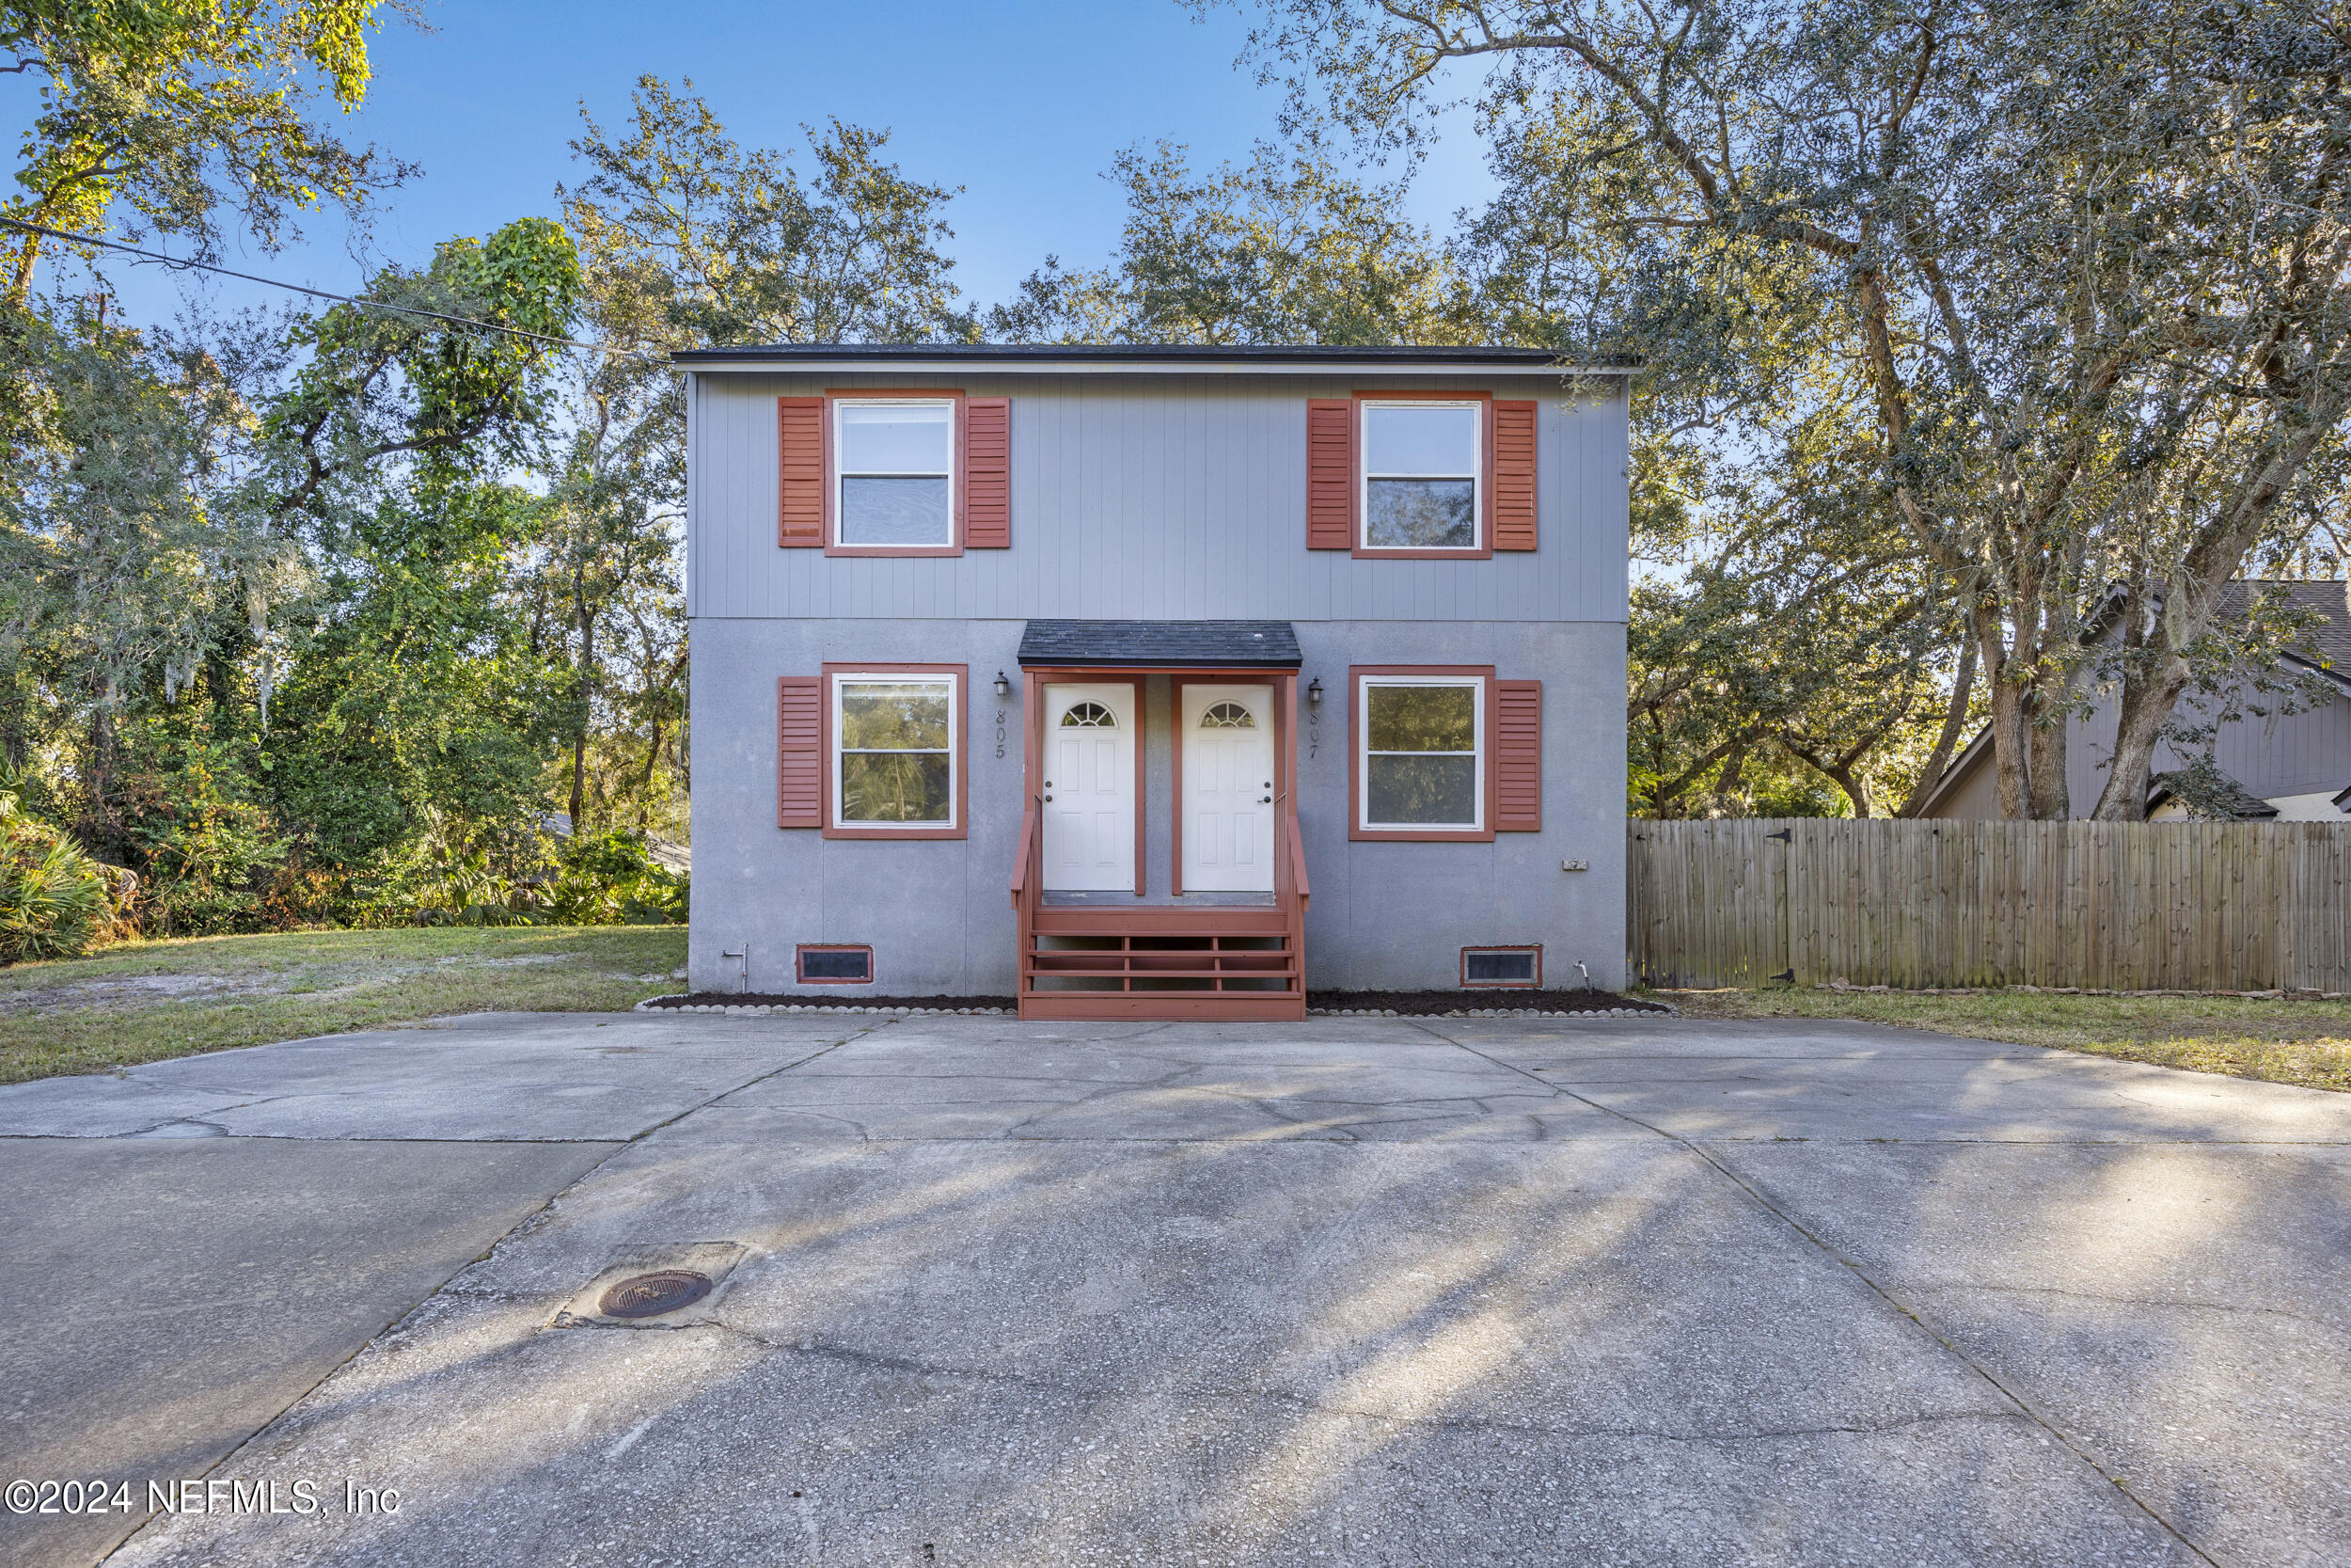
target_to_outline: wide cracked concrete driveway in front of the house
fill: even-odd
[[[12,1563],[2351,1561],[2344,1095],[1862,1025],[536,1016],[0,1140],[0,1474],[136,1493]]]

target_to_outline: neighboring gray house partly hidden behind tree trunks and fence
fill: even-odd
[[[2269,583],[2233,583],[2219,614],[2241,616],[2255,588]],[[2344,602],[2344,583],[2285,583],[2285,592],[2297,609],[2323,616],[2323,625],[2313,637],[2313,654],[2288,656],[2276,675],[2306,677],[2318,693],[2290,701],[2285,693],[2257,691],[2252,682],[2241,682],[2231,691],[2241,717],[2222,722],[2212,743],[2219,778],[2198,776],[2193,769],[2203,757],[2201,745],[2158,743],[2146,792],[2151,820],[2196,816],[2191,799],[2203,816],[2278,823],[2351,820],[2351,607]],[[2106,788],[2104,764],[2114,755],[2118,703],[2121,691],[2099,691],[2090,710],[2071,719],[2067,795],[2074,816],[2090,816]],[[2288,705],[2297,712],[2280,712]],[[2184,722],[2203,724],[2208,719],[2201,715],[2215,708],[2189,693],[2179,698],[2175,712]],[[1918,816],[1970,820],[2001,816],[1989,729],[1958,755]]]

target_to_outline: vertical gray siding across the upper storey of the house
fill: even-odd
[[[1481,562],[1359,562],[1305,548],[1307,397],[1368,386],[1305,376],[969,376],[966,393],[1013,400],[1011,550],[931,559],[781,550],[776,397],[828,383],[889,378],[696,376],[689,614],[1625,621],[1627,425],[1606,381],[1382,381],[1542,402],[1542,548]]]

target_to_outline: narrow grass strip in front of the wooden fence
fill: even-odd
[[[2351,1001],[2048,992],[1643,992],[1693,1018],[1855,1018],[2158,1067],[2351,1091]]]

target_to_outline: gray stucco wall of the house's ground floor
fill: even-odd
[[[1020,621],[694,623],[694,929],[696,990],[788,992],[799,943],[872,943],[872,987],[844,997],[1011,994],[1016,924],[1006,884],[1020,832],[1020,696],[990,682],[1016,663]],[[1465,945],[1542,943],[1545,980],[1596,985],[1625,973],[1625,628],[1610,621],[1300,621],[1300,686],[1321,677],[1319,712],[1300,703],[1300,830],[1312,905],[1307,983],[1317,990],[1451,987]],[[825,839],[776,827],[776,677],[823,663],[969,663],[969,839]],[[1347,665],[1469,663],[1542,679],[1542,832],[1493,844],[1347,839]],[[1147,886],[1168,886],[1168,682],[1145,689]],[[1004,755],[997,755],[997,715]],[[726,715],[722,722],[719,715]],[[1561,860],[1589,860],[1563,872]]]

